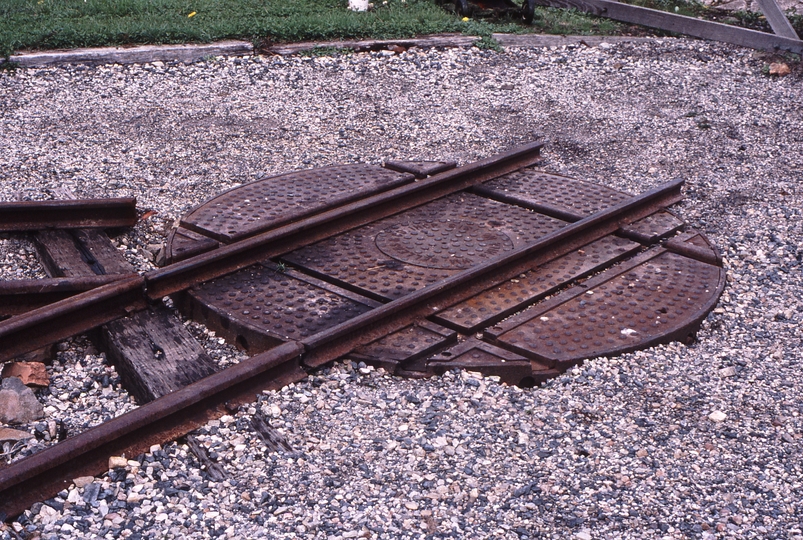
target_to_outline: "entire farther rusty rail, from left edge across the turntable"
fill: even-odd
[[[183,291],[195,284],[220,277],[260,260],[281,255],[377,219],[387,217],[432,199],[455,193],[491,178],[533,165],[539,161],[543,142],[514,148],[508,152],[452,169],[342,207],[328,210],[296,223],[240,240],[210,253],[196,255],[166,268],[148,272],[140,294],[134,288],[119,290],[115,300],[112,288],[77,294],[48,308],[63,313],[69,323],[65,333],[53,324],[46,312],[31,312],[0,321],[0,361],[36,350],[71,335],[144,309],[147,300]],[[87,316],[90,315],[90,316]],[[30,339],[30,341],[26,341]],[[8,347],[8,348],[5,348]]]

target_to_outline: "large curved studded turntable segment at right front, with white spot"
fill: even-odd
[[[486,336],[559,368],[685,339],[716,303],[724,277],[720,267],[653,249],[487,330]]]

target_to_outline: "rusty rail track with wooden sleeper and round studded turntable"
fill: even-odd
[[[689,339],[725,272],[667,210],[682,182],[633,196],[545,174],[541,146],[462,167],[348,165],[246,184],[185,215],[166,265],[144,275],[108,249],[102,229],[121,225],[85,219],[86,205],[18,228],[17,208],[0,206],[4,230],[38,231],[50,275],[0,284],[0,358],[95,332],[141,403],[0,469],[0,512],[344,356],[409,377],[460,368],[534,386],[587,358]],[[166,296],[252,356],[217,371]]]

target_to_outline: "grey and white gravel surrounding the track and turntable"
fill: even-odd
[[[139,271],[185,211],[263,174],[543,137],[549,171],[633,193],[685,179],[676,208],[729,273],[691,345],[534,389],[340,362],[198,432],[227,479],[183,441],[154,447],[0,538],[803,538],[803,81],[764,67],[662,39],[0,73],[0,200],[137,197],[156,214],[116,241]],[[0,237],[0,277],[42,276],[29,239]],[[243,358],[188,325],[222,366]],[[86,339],[58,349],[46,418],[8,457],[135,406]]]

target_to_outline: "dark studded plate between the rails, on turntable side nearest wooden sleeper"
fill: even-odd
[[[251,352],[300,340],[376,306],[337,294],[300,276],[252,265],[187,291],[188,316]]]

